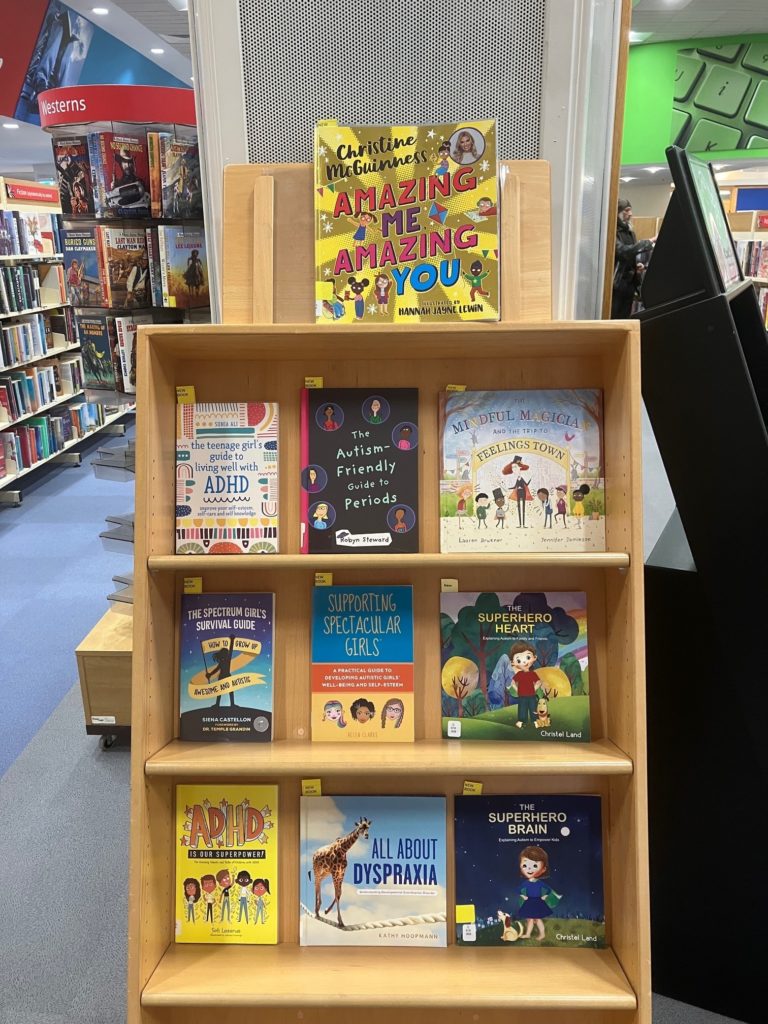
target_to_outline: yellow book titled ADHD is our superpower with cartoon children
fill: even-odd
[[[278,786],[176,786],[176,942],[278,941]]]

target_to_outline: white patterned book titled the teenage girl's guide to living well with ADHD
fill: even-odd
[[[176,407],[176,554],[278,551],[278,404]]]

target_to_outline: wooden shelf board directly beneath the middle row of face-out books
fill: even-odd
[[[307,684],[308,685],[308,684]],[[355,746],[275,740],[272,743],[184,743],[174,739],[146,759],[147,775],[211,776],[413,775],[630,775],[632,759],[608,739],[592,743],[462,742]]]

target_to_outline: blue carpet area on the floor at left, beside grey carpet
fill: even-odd
[[[96,435],[82,466],[40,470],[18,508],[0,509],[0,776],[78,678],[75,648],[109,607],[113,575],[133,566],[132,545],[108,550],[98,536],[106,515],[133,510],[133,475],[91,467],[96,449],[125,443]]]

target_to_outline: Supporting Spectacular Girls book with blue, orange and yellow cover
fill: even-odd
[[[312,739],[414,739],[413,587],[312,591]]]

